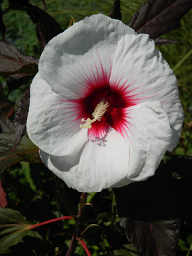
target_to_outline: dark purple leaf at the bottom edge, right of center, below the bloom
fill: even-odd
[[[120,218],[127,239],[138,249],[141,255],[173,256],[177,252],[181,221],[159,220],[141,221]]]

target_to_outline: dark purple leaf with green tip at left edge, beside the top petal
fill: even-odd
[[[0,76],[19,78],[38,72],[38,58],[26,56],[15,45],[0,41]]]

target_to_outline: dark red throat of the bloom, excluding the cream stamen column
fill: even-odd
[[[101,120],[92,123],[92,128],[88,130],[89,136],[102,138],[108,132],[109,125],[122,135],[124,134],[125,126],[127,127],[129,124],[126,118],[126,109],[134,105],[134,102],[129,100],[129,97],[125,97],[125,95],[124,90],[111,88],[108,84],[96,89],[93,88],[87,93],[86,97],[81,99],[84,119],[93,118],[92,113],[102,100],[109,103],[108,110]]]

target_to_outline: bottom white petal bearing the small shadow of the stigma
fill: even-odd
[[[72,156],[50,156],[40,151],[44,164],[67,186],[81,192],[99,192],[126,179],[129,146],[114,129],[100,140],[90,140]]]

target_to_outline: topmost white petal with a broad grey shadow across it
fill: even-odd
[[[77,22],[46,45],[40,76],[67,99],[84,97],[95,86],[108,84],[118,40],[135,31],[102,14]]]

